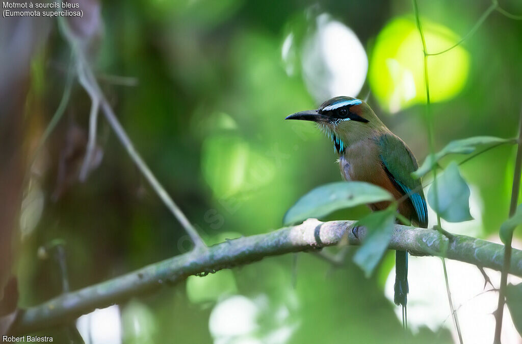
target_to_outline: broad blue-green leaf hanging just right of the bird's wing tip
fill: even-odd
[[[438,204],[435,202],[434,185],[428,191],[428,203],[437,214],[449,222],[473,220],[469,213],[469,187],[460,175],[456,162],[446,167],[436,184]]]

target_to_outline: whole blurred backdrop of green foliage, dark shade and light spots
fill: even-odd
[[[420,0],[428,51],[458,42],[490,5]],[[522,13],[517,0],[501,5]],[[86,0],[80,8],[86,15],[72,25],[104,94],[209,245],[281,227],[305,192],[340,179],[331,143],[311,123],[283,121],[290,113],[358,96],[419,160],[428,153],[422,46],[410,1]],[[473,135],[516,134],[521,35],[522,21],[493,12],[457,48],[430,57],[437,148]],[[102,116],[97,162],[78,181],[90,108],[78,83],[33,166],[24,167],[62,99],[71,54],[56,21],[38,18],[0,19],[0,45],[0,156],[13,164],[0,175],[10,197],[2,245],[7,252],[13,243],[19,305],[61,293],[56,263],[37,254],[56,239],[65,242],[73,290],[185,253],[182,227]],[[513,160],[514,147],[502,146],[461,166],[474,220],[447,230],[499,241]],[[367,279],[351,261],[356,249],[348,248],[340,267],[299,253],[190,277],[81,317],[77,327],[88,343],[453,342],[440,260],[410,259],[405,335],[390,300],[393,254]],[[497,294],[480,294],[475,267],[448,262],[448,270],[465,342],[492,342]],[[497,287],[499,276],[488,272]],[[520,342],[505,319],[505,342]],[[45,334],[65,340],[62,329]]]

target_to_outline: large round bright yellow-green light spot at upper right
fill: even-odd
[[[459,37],[448,28],[422,20],[429,53],[452,47]],[[458,47],[429,56],[430,99],[455,97],[466,84],[469,54]],[[381,106],[397,112],[426,101],[422,43],[412,18],[396,18],[379,33],[370,61],[369,81]]]

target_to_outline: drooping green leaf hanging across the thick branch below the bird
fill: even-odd
[[[386,210],[363,217],[355,224],[364,226],[367,231],[362,246],[353,256],[353,261],[364,271],[366,277],[370,277],[388,248],[394,230],[396,210],[397,208],[391,205]]]

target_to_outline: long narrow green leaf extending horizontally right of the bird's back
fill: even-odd
[[[448,143],[442,151],[436,154],[430,154],[424,160],[422,166],[414,171],[411,175],[413,178],[423,177],[426,173],[433,169],[433,166],[448,154],[470,154],[473,153],[477,146],[485,144],[500,145],[503,143],[515,143],[513,139],[502,139],[502,137],[495,136],[474,136],[467,139],[456,140]]]

